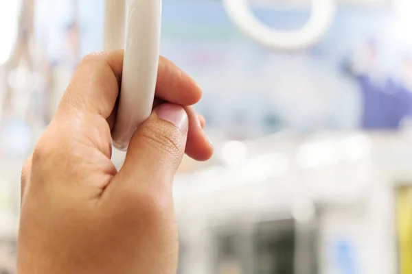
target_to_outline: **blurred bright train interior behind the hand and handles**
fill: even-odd
[[[175,179],[179,274],[412,274],[412,1],[331,0],[299,49],[254,39],[225,3],[163,0],[161,53],[203,86],[216,146]],[[249,4],[284,32],[312,14]],[[104,0],[0,0],[1,274],[15,273],[21,166],[103,26]]]

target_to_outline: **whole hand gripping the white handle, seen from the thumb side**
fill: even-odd
[[[117,171],[111,129],[122,62],[123,51],[82,60],[23,167],[19,274],[176,273],[172,180],[184,153],[213,152],[190,106],[202,91],[160,58],[154,111]]]

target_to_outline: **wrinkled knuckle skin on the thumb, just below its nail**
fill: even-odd
[[[179,157],[183,149],[181,136],[173,129],[148,126],[142,132],[149,145],[161,149],[170,155]]]

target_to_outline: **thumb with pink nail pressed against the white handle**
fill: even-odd
[[[130,140],[126,160],[117,175],[128,182],[172,182],[185,153],[189,122],[181,105],[156,108]]]

